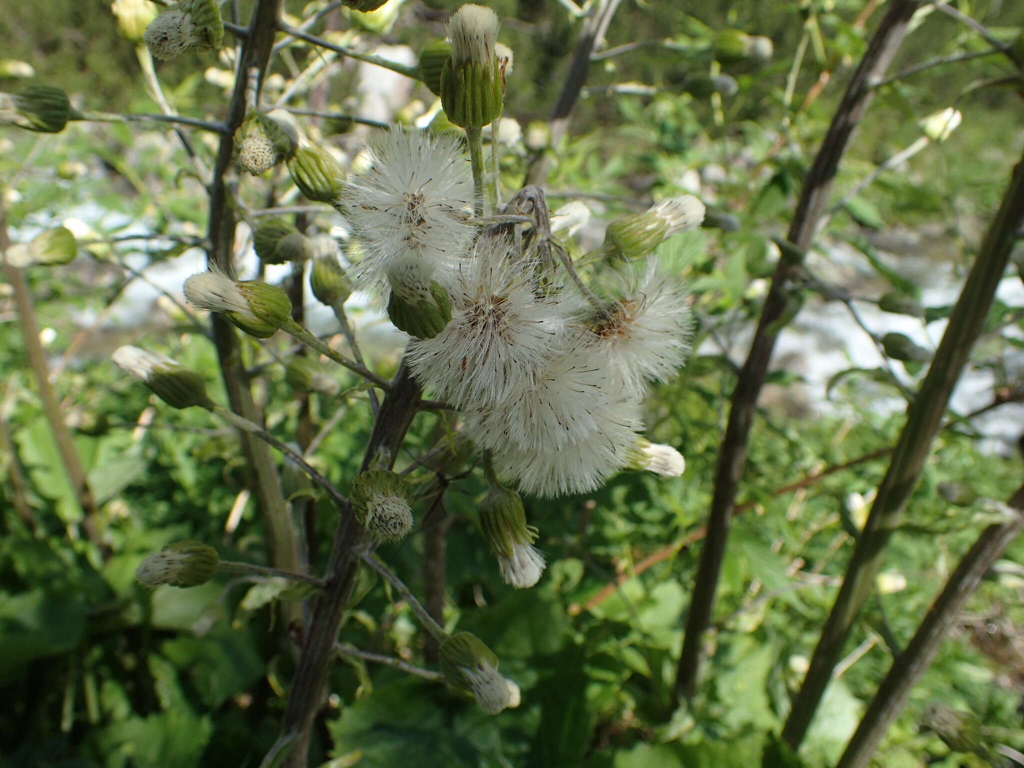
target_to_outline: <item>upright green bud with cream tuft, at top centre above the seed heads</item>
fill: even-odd
[[[501,22],[490,8],[467,3],[452,14],[452,55],[441,71],[441,105],[463,128],[481,128],[502,111],[505,82],[496,46]]]

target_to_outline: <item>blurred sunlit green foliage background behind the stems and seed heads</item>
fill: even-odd
[[[303,16],[321,4],[290,2],[288,10]],[[531,121],[544,121],[557,96],[579,23],[557,3],[489,4],[505,17],[502,40],[516,52],[505,114],[528,137]],[[247,4],[240,5],[245,17]],[[418,49],[440,34],[456,5],[407,3],[385,42]],[[1016,3],[955,5],[1002,40],[1024,26],[1024,7]],[[725,229],[664,246],[692,286],[700,329],[692,361],[649,400],[648,436],[679,447],[687,471],[668,481],[625,473],[587,497],[528,502],[549,569],[538,588],[524,592],[502,584],[469,522],[483,490],[478,475],[455,482],[442,511],[427,515],[422,505],[424,527],[442,515],[450,526],[447,624],[487,642],[503,674],[521,686],[523,703],[492,718],[435,684],[341,663],[332,678],[332,712],[316,734],[317,760],[338,768],[674,768],[756,765],[762,754],[772,754],[772,734],[806,669],[885,458],[796,493],[776,489],[892,445],[902,409],[891,377],[912,386],[921,376],[920,366],[879,357],[866,372],[836,379],[826,393],[819,357],[839,355],[849,360],[847,368],[865,368],[852,351],[857,329],[834,331],[830,348],[808,341],[808,328],[835,316],[828,312],[837,302],[827,292],[822,298],[812,287],[802,315],[809,314],[806,325],[798,321],[784,332],[805,352],[780,360],[762,402],[739,500],[749,511],[730,541],[699,695],[673,710],[671,687],[728,393],[763,279],[778,257],[770,239],[784,231],[851,61],[863,51],[865,32],[855,24],[863,11],[864,3],[843,0],[624,3],[608,32],[609,47],[666,38],[676,45],[639,47],[592,65],[570,138],[549,151],[556,161],[549,199],[553,208],[572,199],[587,202],[598,220],[584,238],[597,242],[601,221],[682,191],[696,191],[731,217]],[[340,29],[352,24],[348,16],[330,23]],[[0,24],[4,55],[31,63],[40,82],[67,88],[80,106],[159,112],[141,87],[133,45],[119,36],[106,3],[19,4],[6,9]],[[744,61],[726,68],[736,79],[735,95],[694,98],[684,91],[687,78],[717,65],[692,51],[705,49],[726,27],[771,37],[775,55],[761,67]],[[986,47],[970,28],[928,15],[891,73]],[[308,63],[302,57],[312,55],[296,49],[292,71],[280,74],[294,76]],[[182,114],[203,117],[216,116],[223,105],[216,70],[228,68],[217,54],[204,53],[162,66],[159,74]],[[837,200],[918,138],[918,118],[956,105],[964,124],[948,141],[883,173],[833,217],[811,261],[823,280],[862,306],[902,292],[925,303],[928,319],[941,323],[1024,141],[1019,93],[980,87],[1006,73],[1000,57],[985,56],[880,89],[842,168]],[[653,91],[616,92],[612,86],[623,83]],[[18,84],[3,79],[0,89]],[[820,97],[808,95],[822,84]],[[335,109],[358,109],[358,85],[357,71],[346,65],[319,97]],[[420,88],[412,99],[429,103],[429,94]],[[409,114],[415,110],[408,108]],[[321,124],[327,143],[346,152],[357,146],[351,134],[334,133],[337,127]],[[212,144],[199,134],[194,142],[209,160]],[[502,164],[507,187],[521,181],[529,155],[522,141],[509,147]],[[266,557],[261,523],[240,499],[248,478],[234,434],[205,413],[168,409],[108,361],[119,343],[164,350],[206,372],[211,393],[224,401],[213,349],[179,310],[166,299],[141,313],[122,309],[134,286],[159,280],[177,259],[195,257],[187,249],[204,230],[206,213],[197,204],[203,191],[189,167],[169,130],[76,123],[42,138],[0,132],[0,179],[9,184],[3,205],[13,239],[28,240],[69,217],[92,229],[80,237],[84,245],[73,264],[33,267],[28,276],[48,329],[54,385],[101,509],[90,540],[26,373],[6,294],[0,299],[7,443],[0,455],[0,688],[6,701],[0,752],[9,765],[252,766],[276,733],[294,659],[280,612],[275,621],[274,585],[222,579],[150,593],[133,581],[144,553],[179,539],[208,542],[229,559]],[[169,239],[112,242],[142,230]],[[938,274],[939,284],[926,283],[925,272]],[[1014,283],[1019,287],[1016,274],[1008,275],[973,361],[975,372],[986,372],[983,397],[1020,386],[1024,292],[1012,290]],[[908,322],[916,324],[919,341],[938,338],[941,326]],[[852,328],[848,315],[845,324]],[[371,319],[367,333],[373,328]],[[386,367],[396,353],[395,343],[381,341],[374,356]],[[267,366],[260,396],[278,403],[268,426],[288,439],[298,403],[282,367],[261,354]],[[355,384],[347,374],[335,375]],[[371,426],[362,396],[312,403],[317,423],[345,409],[315,460],[343,489]],[[858,651],[831,684],[805,741],[806,765],[835,762],[893,651],[991,519],[986,500],[1006,500],[1020,484],[1020,459],[1007,436],[1020,431],[1021,411],[1004,408],[995,412],[1006,424],[995,438],[982,436],[992,433],[990,420],[956,422],[937,441],[890,547],[887,581],[858,624]],[[437,422],[433,415],[419,417],[404,459],[427,442]],[[15,474],[24,475],[24,494]],[[974,498],[952,506],[950,483],[970,488]],[[27,502],[20,512],[15,496]],[[225,520],[240,504],[241,523],[228,532]],[[317,502],[313,540],[322,554],[333,528],[330,505]],[[423,539],[421,531],[387,552],[416,592],[423,583]],[[1008,560],[1021,556],[1024,544],[1018,543]],[[408,608],[367,580],[341,639],[422,662],[424,638]],[[971,758],[950,753],[919,727],[933,699],[977,714],[992,739],[1024,750],[1022,586],[1012,567],[983,585],[891,729],[879,765],[970,764]]]

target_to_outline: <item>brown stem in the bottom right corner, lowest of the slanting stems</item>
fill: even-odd
[[[893,662],[836,768],[863,768],[871,759],[879,741],[906,703],[914,683],[931,666],[942,639],[978,589],[982,577],[1024,527],[1021,516],[1024,486],[1014,494],[1009,506],[1016,514],[1007,522],[985,528],[946,581],[906,650]]]

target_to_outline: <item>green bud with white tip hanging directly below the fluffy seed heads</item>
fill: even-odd
[[[498,558],[498,567],[506,584],[517,589],[532,587],[544,572],[544,556],[534,549],[537,528],[526,524],[526,513],[519,495],[490,483],[480,502],[480,530]]]

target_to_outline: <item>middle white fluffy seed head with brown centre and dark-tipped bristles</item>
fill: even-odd
[[[481,241],[450,290],[452,321],[410,350],[416,378],[457,406],[518,398],[560,351],[564,306],[543,296],[532,266],[509,251],[506,239]]]

